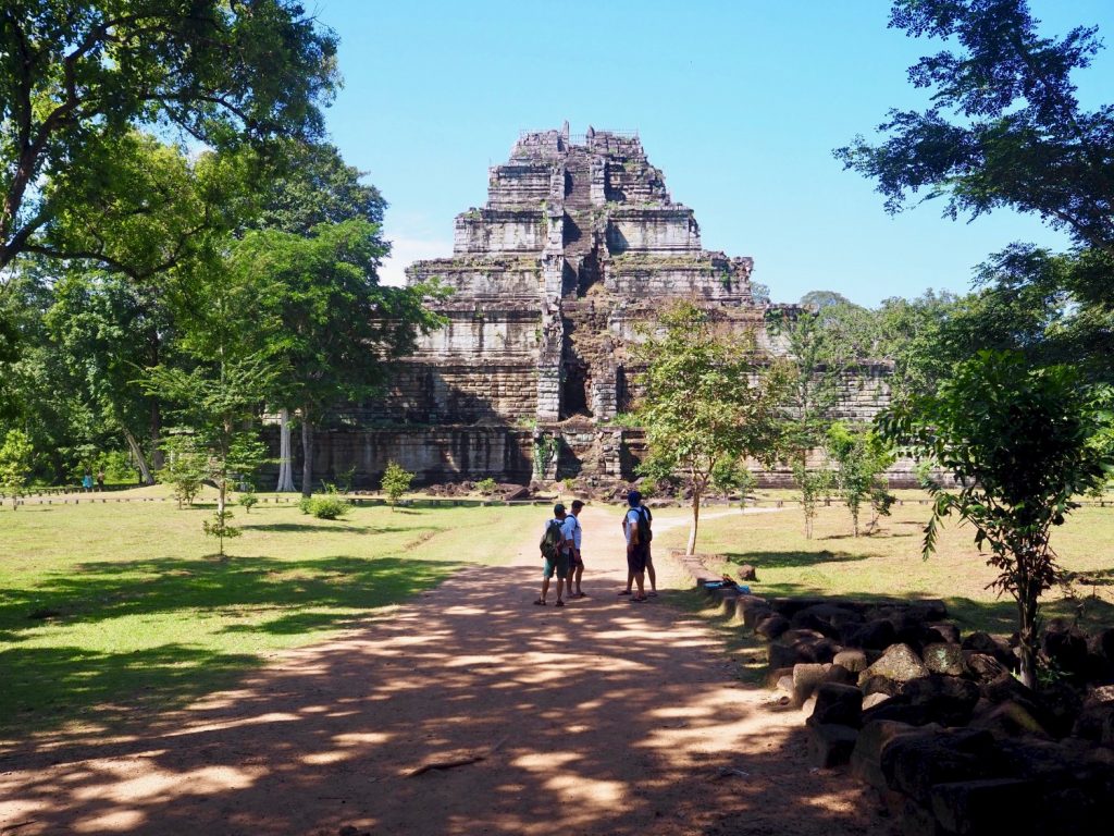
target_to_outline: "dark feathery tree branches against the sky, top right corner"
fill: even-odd
[[[1084,361],[1110,378],[1114,107],[1083,108],[1073,80],[1102,48],[1097,30],[1043,35],[1025,0],[897,0],[890,25],[951,47],[909,69],[931,103],[891,110],[879,142],[859,136],[836,156],[877,183],[890,212],[941,198],[950,217],[1009,207],[1064,231],[1073,242],[1067,253],[1015,245],[991,256],[983,278],[1005,298],[980,301],[1008,302],[1023,284],[1045,302],[1066,294],[1064,329],[1054,341],[1074,340],[1088,351]],[[1032,344],[1022,349],[1034,353]]]

